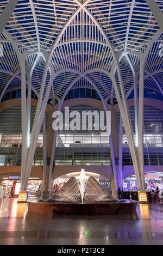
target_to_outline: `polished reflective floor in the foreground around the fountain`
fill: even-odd
[[[141,204],[134,215],[61,216],[16,201],[0,199],[0,245],[163,245],[162,204]]]

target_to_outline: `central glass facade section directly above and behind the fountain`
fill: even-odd
[[[89,106],[76,106],[70,108],[78,111],[82,116],[83,111],[97,111],[99,109]],[[63,113],[65,120],[65,113]],[[105,121],[106,123],[106,121]],[[66,124],[64,123],[64,126]],[[57,136],[57,150],[55,156],[56,165],[110,165],[109,136],[104,135],[101,130],[82,131],[82,122],[77,121],[80,131],[59,131]],[[85,124],[87,127],[87,124]]]

